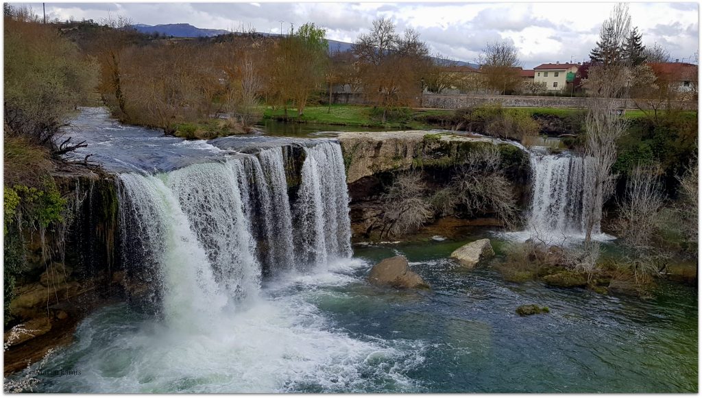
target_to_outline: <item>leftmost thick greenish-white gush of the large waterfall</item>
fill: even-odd
[[[128,173],[120,175],[120,180],[122,199],[128,199],[120,211],[133,212],[136,225],[126,227],[129,232],[143,234],[138,239],[145,245],[147,260],[152,261],[143,266],[157,267],[152,275],[161,291],[166,321],[188,330],[201,325],[199,319],[213,319],[227,303],[227,296],[216,282],[207,253],[178,198],[157,176]]]

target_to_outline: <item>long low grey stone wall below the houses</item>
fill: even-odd
[[[499,102],[504,107],[547,107],[547,108],[581,108],[588,98],[548,97],[526,95],[475,95],[475,94],[425,94],[423,107],[437,109],[460,109],[475,107],[489,102]],[[680,102],[683,109],[697,110],[697,102]],[[617,100],[620,109],[638,109],[629,99]]]

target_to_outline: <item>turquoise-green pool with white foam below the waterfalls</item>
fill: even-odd
[[[355,260],[265,282],[260,298],[183,333],[126,305],[93,314],[44,392],[695,392],[697,296],[652,300],[511,284],[463,270],[463,241],[357,246]],[[431,291],[364,281],[403,254]],[[550,313],[515,314],[537,303]]]

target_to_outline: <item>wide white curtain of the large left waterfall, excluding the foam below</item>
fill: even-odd
[[[256,296],[265,274],[350,257],[340,145],[304,152],[294,206],[281,147],[157,175],[121,174],[121,257],[140,300],[168,321],[192,324]]]

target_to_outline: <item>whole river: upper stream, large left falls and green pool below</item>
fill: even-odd
[[[697,390],[694,288],[604,296],[512,284],[448,259],[480,237],[500,256],[491,230],[351,248],[333,140],[292,139],[307,155],[288,199],[270,177],[281,163],[269,159],[284,156],[288,138],[183,142],[117,126],[100,110],[81,117],[91,159],[119,174],[120,211],[132,220],[122,233],[141,234],[133,259],[156,272],[158,297],[154,311],[120,304],[88,316],[37,376],[40,392]],[[260,241],[274,256],[257,255]],[[397,254],[430,291],[365,281]],[[515,313],[531,303],[550,312]]]

